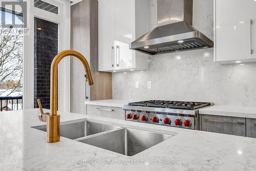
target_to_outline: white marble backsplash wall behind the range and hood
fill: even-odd
[[[213,1],[194,0],[193,26],[213,38]],[[148,28],[157,25],[157,1],[149,0]],[[214,49],[149,56],[148,70],[113,73],[114,99],[206,101],[256,107],[256,63],[220,65]],[[135,89],[139,81],[139,89]],[[147,89],[152,81],[152,89]]]

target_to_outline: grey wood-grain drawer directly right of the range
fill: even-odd
[[[246,136],[245,123],[245,118],[200,115],[201,131]]]

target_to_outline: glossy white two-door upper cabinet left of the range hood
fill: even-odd
[[[146,32],[146,0],[99,0],[99,71],[146,70],[147,55],[129,49]]]

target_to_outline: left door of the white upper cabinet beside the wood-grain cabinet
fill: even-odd
[[[99,0],[99,71],[115,69],[115,0]]]

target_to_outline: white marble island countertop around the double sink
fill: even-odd
[[[39,109],[0,113],[1,170],[256,169],[256,139],[253,138],[110,120],[90,115],[60,114],[61,122],[83,119],[174,135],[129,157],[63,137],[57,143],[47,143],[46,132],[31,127],[44,124],[38,121],[39,113]],[[88,161],[122,161],[125,164],[91,164]]]

